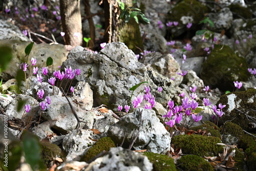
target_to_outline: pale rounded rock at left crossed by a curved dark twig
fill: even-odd
[[[67,134],[68,132],[75,129],[77,120],[71,111],[70,105],[65,97],[57,95],[50,96],[51,104],[49,109],[42,112],[41,117],[43,120],[51,122],[51,127],[55,130],[55,133]],[[80,119],[80,128],[85,127],[86,129],[92,129],[94,122],[94,112],[84,111],[75,106],[71,98],[69,101],[73,105],[73,109]]]

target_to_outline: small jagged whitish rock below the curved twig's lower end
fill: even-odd
[[[80,160],[86,154],[91,145],[95,143],[92,139],[98,139],[88,130],[73,130],[63,139],[63,149],[67,152],[67,161]]]

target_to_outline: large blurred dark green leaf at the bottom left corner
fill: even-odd
[[[39,170],[42,170],[44,164],[41,160],[41,145],[38,138],[25,131],[22,140],[26,162],[30,164],[33,170],[38,170],[38,168]]]

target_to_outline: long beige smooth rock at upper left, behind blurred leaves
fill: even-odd
[[[13,49],[12,60],[9,63],[8,68],[1,73],[4,80],[8,80],[16,77],[17,70],[19,69],[20,63],[26,61],[25,59],[25,48],[30,42],[24,42],[20,40],[0,40],[0,47],[6,46]],[[53,58],[53,70],[58,70],[58,66],[62,65],[62,62],[67,59],[67,50],[65,46],[61,44],[49,45],[49,44],[38,44],[33,46],[31,53],[28,58],[28,69],[26,71],[27,76],[30,74],[31,57],[36,58],[35,67],[41,68],[46,67],[46,61],[48,57]],[[32,68],[33,70],[33,68]]]

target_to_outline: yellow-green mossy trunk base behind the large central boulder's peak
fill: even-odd
[[[134,18],[131,18],[128,23],[123,22],[119,26],[118,41],[123,42],[135,54],[140,53],[138,48],[143,50],[140,28]]]

